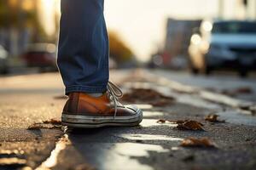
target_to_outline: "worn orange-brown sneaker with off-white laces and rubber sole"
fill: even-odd
[[[143,120],[143,111],[135,105],[121,105],[121,96],[122,91],[112,82],[101,97],[71,93],[61,122],[67,127],[137,126]]]

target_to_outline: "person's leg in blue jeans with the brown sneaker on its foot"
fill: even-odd
[[[108,82],[103,4],[61,0],[58,65],[68,94],[61,122],[68,127],[136,126],[143,119],[136,106],[118,102],[122,92]]]

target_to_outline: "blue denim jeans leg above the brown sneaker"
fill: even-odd
[[[108,32],[104,0],[61,0],[57,64],[71,92],[102,93],[108,84]]]

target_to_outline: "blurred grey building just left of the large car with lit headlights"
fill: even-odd
[[[168,19],[164,48],[153,55],[153,62],[161,67],[186,67],[190,37],[201,20]]]

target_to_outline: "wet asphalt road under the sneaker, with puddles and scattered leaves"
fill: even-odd
[[[155,79],[148,77],[148,73],[153,73]],[[154,97],[147,101],[137,97],[131,103],[144,111],[139,127],[70,129],[50,123],[51,119],[60,120],[66,101],[58,74],[0,78],[0,169],[254,169],[256,166],[255,116],[201,99],[196,94],[177,92],[157,80],[166,77],[193,86],[205,81],[211,88],[218,88],[224,82],[215,81],[218,77],[197,77],[199,82],[186,73],[170,71],[112,71],[111,75],[125,93],[132,88],[150,88],[173,100],[166,104],[163,97],[160,97],[163,102]],[[253,83],[248,80],[246,85],[250,81]],[[244,80],[235,82],[230,82],[230,86],[245,85],[241,83]],[[205,121],[210,113],[220,115],[219,119],[225,122]],[[179,130],[177,124],[158,123],[159,119],[195,120],[204,124],[204,131]],[[35,122],[41,127],[27,129]],[[188,137],[207,137],[216,147],[181,146]]]

